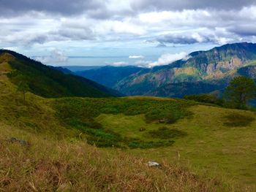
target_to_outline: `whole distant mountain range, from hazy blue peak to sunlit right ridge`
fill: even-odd
[[[256,44],[242,42],[190,53],[165,66],[105,66],[77,74],[124,95],[183,97],[221,93],[238,75],[256,78]]]

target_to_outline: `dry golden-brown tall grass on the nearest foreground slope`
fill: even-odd
[[[0,191],[225,191],[215,179],[83,141],[56,140],[1,125]],[[7,139],[19,137],[29,147]]]

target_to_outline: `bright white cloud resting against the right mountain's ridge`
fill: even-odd
[[[188,58],[189,58],[189,55],[187,55],[187,53],[185,53],[185,52],[176,53],[176,54],[166,53],[166,54],[161,55],[157,61],[155,61],[153,63],[149,63],[148,67],[172,64],[174,61],[178,61],[181,59],[187,60]]]

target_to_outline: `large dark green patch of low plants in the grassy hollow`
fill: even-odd
[[[157,126],[159,122],[168,125],[175,123],[178,119],[189,117],[191,114],[187,107],[191,105],[192,102],[184,100],[156,100],[141,97],[138,99],[56,99],[52,106],[56,110],[56,117],[61,120],[63,126],[75,128],[81,133],[87,134],[87,140],[90,144],[98,147],[132,146],[135,148],[137,146],[146,148],[170,146],[174,141],[156,140],[151,138],[147,131],[140,131],[141,128],[159,128]],[[140,120],[140,126],[138,124],[133,126],[129,118],[124,116],[116,125],[109,125],[108,127],[99,120],[102,114],[124,114],[129,118],[136,118],[137,116],[141,118],[143,115],[143,120]],[[125,130],[129,133],[124,133]],[[135,141],[135,139],[137,140]]]

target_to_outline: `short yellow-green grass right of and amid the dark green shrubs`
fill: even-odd
[[[189,110],[193,112],[192,117],[166,125],[187,133],[175,139],[171,147],[128,150],[129,153],[156,161],[183,164],[197,173],[207,172],[208,177],[222,177],[222,180],[232,183],[234,191],[255,191],[255,113],[203,105],[190,107]],[[230,115],[234,118],[230,119]],[[244,118],[247,120],[244,121]],[[148,131],[162,126],[143,123],[143,115],[99,115],[97,120],[107,128],[113,127],[121,134],[139,138],[145,137],[145,133],[138,131],[141,126]],[[131,133],[124,122],[132,129]]]

